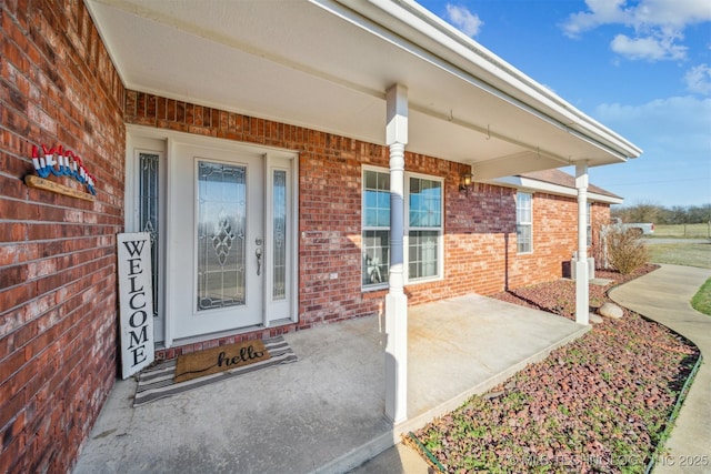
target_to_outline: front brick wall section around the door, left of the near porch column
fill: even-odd
[[[127,92],[126,122],[298,151],[299,327],[381,310],[384,292],[360,291],[361,165],[388,167],[387,148],[137,91]],[[259,336],[292,329],[270,329]],[[157,355],[170,357],[200,345]]]

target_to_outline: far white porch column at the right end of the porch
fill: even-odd
[[[578,260],[575,261],[575,322],[588,324],[590,291],[588,289],[588,163],[575,163],[578,189]]]

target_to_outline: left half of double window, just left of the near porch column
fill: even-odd
[[[390,172],[363,170],[362,285],[388,285],[390,269]]]

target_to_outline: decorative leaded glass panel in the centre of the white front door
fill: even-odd
[[[198,163],[198,310],[246,304],[247,169]]]

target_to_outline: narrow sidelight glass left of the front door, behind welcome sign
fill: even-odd
[[[139,225],[151,239],[151,271],[153,285],[153,317],[158,317],[158,164],[159,155],[139,153]]]

